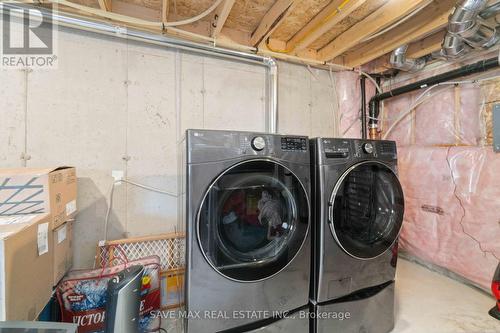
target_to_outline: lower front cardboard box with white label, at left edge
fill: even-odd
[[[0,217],[0,321],[34,320],[52,295],[49,214]]]

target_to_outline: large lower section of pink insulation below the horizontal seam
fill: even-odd
[[[488,289],[500,258],[500,158],[491,147],[399,147],[403,249]]]

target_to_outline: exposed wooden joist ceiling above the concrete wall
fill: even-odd
[[[70,2],[72,5],[63,4],[60,10],[69,9],[70,13],[77,10],[80,15],[124,27],[224,44],[235,50],[258,48],[258,52],[294,56],[305,62],[333,62],[351,67],[377,59],[370,68],[377,66],[383,70],[389,67],[390,52],[401,44],[411,43],[408,57],[438,50],[442,33],[436,32],[448,19],[442,9],[452,8],[456,0]],[[175,23],[186,20],[189,24]]]

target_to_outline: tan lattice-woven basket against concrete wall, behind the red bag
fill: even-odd
[[[97,246],[96,267],[112,266],[151,255],[160,257],[162,310],[184,304],[185,235],[167,233],[101,242]],[[123,257],[126,258],[123,258]]]

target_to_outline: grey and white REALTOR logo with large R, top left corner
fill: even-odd
[[[54,68],[52,7],[5,2],[2,11],[2,68]]]

